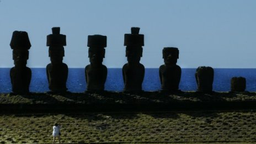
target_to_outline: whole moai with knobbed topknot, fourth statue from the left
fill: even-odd
[[[140,28],[131,28],[131,34],[125,34],[124,45],[128,63],[122,67],[125,92],[141,92],[145,67],[140,63],[144,35],[138,34]]]

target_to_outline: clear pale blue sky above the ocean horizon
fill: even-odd
[[[67,38],[63,62],[70,68],[89,65],[87,36],[107,36],[103,64],[127,63],[124,34],[132,26],[145,35],[141,63],[163,65],[163,47],[178,47],[182,68],[256,68],[254,0],[1,0],[0,67],[13,67],[10,39],[28,32],[28,67],[50,63],[46,36],[59,26]]]

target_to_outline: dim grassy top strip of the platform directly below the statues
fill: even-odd
[[[143,92],[128,94],[122,92],[105,93],[67,93],[47,94],[31,93],[27,95],[0,94],[0,104],[136,104],[170,102],[241,102],[256,101],[255,92],[178,92],[174,94]]]

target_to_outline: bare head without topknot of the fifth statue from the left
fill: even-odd
[[[179,50],[176,47],[164,47],[163,59],[166,65],[176,65],[179,58]]]

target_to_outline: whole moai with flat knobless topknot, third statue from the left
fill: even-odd
[[[90,65],[85,68],[88,92],[103,92],[108,70],[102,65],[105,57],[106,36],[88,35],[87,46]]]

